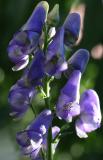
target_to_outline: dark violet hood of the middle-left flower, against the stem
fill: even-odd
[[[37,86],[44,76],[44,54],[38,50],[32,60],[31,65],[26,69],[23,76],[18,80],[18,84],[23,87]]]

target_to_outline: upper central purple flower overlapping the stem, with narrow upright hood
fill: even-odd
[[[64,29],[60,28],[53,37],[46,52],[45,72],[49,75],[58,75],[67,69],[64,55]]]

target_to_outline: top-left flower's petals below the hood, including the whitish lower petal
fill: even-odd
[[[31,35],[34,36],[33,40],[30,38]],[[35,46],[32,43],[37,45],[38,38],[38,34],[32,31],[19,31],[14,35],[8,46],[9,58],[15,63],[13,71],[21,70],[27,66],[28,54],[33,52]]]

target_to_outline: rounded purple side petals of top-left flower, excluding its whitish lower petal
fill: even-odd
[[[8,56],[14,63],[19,63],[37,47],[39,35],[32,31],[19,31],[14,34],[8,46]]]

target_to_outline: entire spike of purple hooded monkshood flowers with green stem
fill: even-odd
[[[89,52],[79,49],[69,60],[65,56],[78,39],[80,15],[69,14],[59,26],[59,5],[48,11],[48,3],[40,2],[8,46],[9,58],[15,64],[13,71],[25,68],[22,77],[9,91],[10,115],[22,118],[39,91],[46,103],[46,108],[16,136],[22,153],[32,160],[43,157],[52,160],[48,155],[55,153],[62,134],[58,126],[52,126],[55,116],[65,120],[67,125],[76,117],[75,129],[80,138],[88,137],[88,133],[99,128],[101,123],[97,93],[88,89],[80,96],[80,81],[89,61]],[[62,74],[67,77],[67,83],[60,91],[55,109],[50,105],[50,82],[60,79]]]

